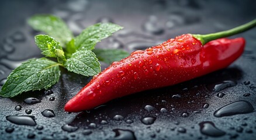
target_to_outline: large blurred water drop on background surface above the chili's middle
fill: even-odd
[[[143,24],[143,29],[152,34],[164,33],[164,29],[160,26],[157,16],[150,16],[150,18]]]

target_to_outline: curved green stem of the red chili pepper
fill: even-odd
[[[216,40],[218,38],[233,36],[234,34],[242,33],[243,31],[247,31],[255,26],[256,26],[256,19],[230,30],[220,31],[220,32],[211,33],[211,34],[192,34],[192,36],[200,40],[201,43],[204,45],[207,42]]]

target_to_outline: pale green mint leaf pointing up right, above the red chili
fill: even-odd
[[[77,50],[92,50],[96,43],[122,28],[113,23],[97,23],[89,26],[79,36],[75,37],[75,47]]]

